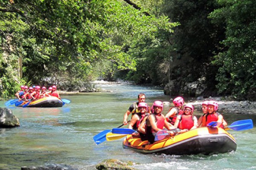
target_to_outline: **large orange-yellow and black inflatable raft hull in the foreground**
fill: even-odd
[[[226,130],[218,127],[200,127],[176,136],[148,144],[132,135],[126,136],[123,147],[140,153],[166,155],[211,155],[236,151],[236,140]]]

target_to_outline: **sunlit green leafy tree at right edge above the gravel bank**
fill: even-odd
[[[253,0],[219,0],[222,8],[210,17],[226,23],[227,49],[215,56],[218,65],[217,88],[237,99],[255,99],[256,94],[256,4]]]

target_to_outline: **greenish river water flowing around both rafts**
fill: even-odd
[[[143,155],[122,148],[122,139],[96,145],[93,136],[122,125],[122,117],[140,92],[146,102],[169,101],[161,89],[136,85],[101,85],[113,92],[62,96],[70,104],[62,108],[16,108],[20,127],[0,129],[0,170],[22,166],[67,164],[81,170],[95,170],[104,159],[133,161],[138,170],[256,170],[256,130],[234,131],[236,152],[204,156]],[[0,107],[4,107],[0,101]],[[163,113],[167,113],[165,107]],[[200,112],[195,115],[199,117]],[[229,124],[256,115],[223,113]]]

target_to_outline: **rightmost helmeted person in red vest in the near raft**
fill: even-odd
[[[217,112],[218,103],[216,101],[210,100],[207,109],[208,113],[203,116],[201,127],[207,126],[209,122],[219,122],[219,125],[216,125],[215,127],[224,128],[227,126],[227,122],[223,119],[223,116]]]

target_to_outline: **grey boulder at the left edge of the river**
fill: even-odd
[[[0,108],[0,127],[20,126],[19,119],[12,114],[9,108]]]

